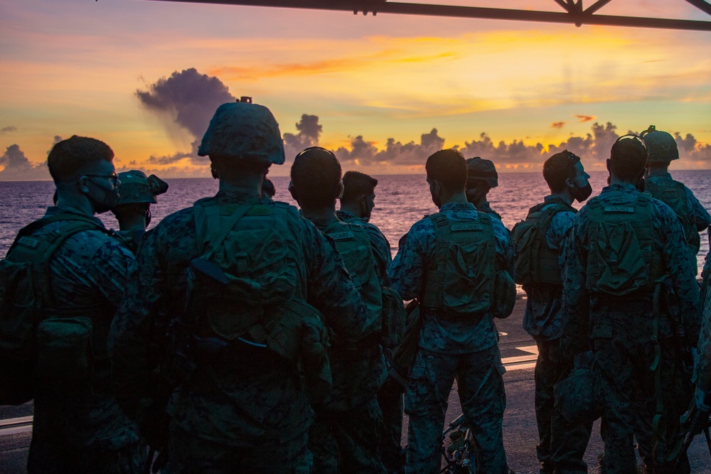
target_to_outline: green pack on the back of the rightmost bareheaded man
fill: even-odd
[[[585,286],[594,293],[624,296],[653,289],[664,274],[662,257],[653,249],[652,198],[587,204],[589,254]]]

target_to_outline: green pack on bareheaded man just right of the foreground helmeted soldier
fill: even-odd
[[[383,329],[383,291],[375,271],[375,260],[368,235],[357,223],[342,221],[333,222],[326,227],[324,234],[331,237],[336,244],[336,250],[346,265],[353,286],[368,308],[365,327],[372,328],[373,333],[380,333]]]

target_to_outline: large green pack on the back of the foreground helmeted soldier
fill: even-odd
[[[193,205],[199,257],[187,269],[181,323],[191,350],[218,352],[246,343],[294,363],[314,399],[331,386],[328,333],[323,316],[299,296],[304,262],[294,229],[301,225],[286,203]],[[313,382],[313,383],[311,383]]]

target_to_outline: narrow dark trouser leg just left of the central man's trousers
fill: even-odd
[[[405,466],[402,456],[402,385],[388,378],[378,391],[378,405],[383,412],[383,434],[380,436],[380,455],[388,473]]]

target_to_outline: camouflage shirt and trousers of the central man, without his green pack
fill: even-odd
[[[442,205],[440,212],[455,221],[477,216],[471,203],[448,203]],[[508,230],[499,220],[491,222],[496,266],[511,272],[513,246]],[[416,222],[400,239],[390,279],[403,299],[422,296],[434,244],[434,225],[429,217]],[[405,412],[410,416],[406,472],[439,473],[444,416],[456,375],[461,407],[474,433],[481,472],[508,473],[502,437],[506,394],[499,367],[503,369],[491,313],[454,321],[423,311],[419,351],[405,392]]]

